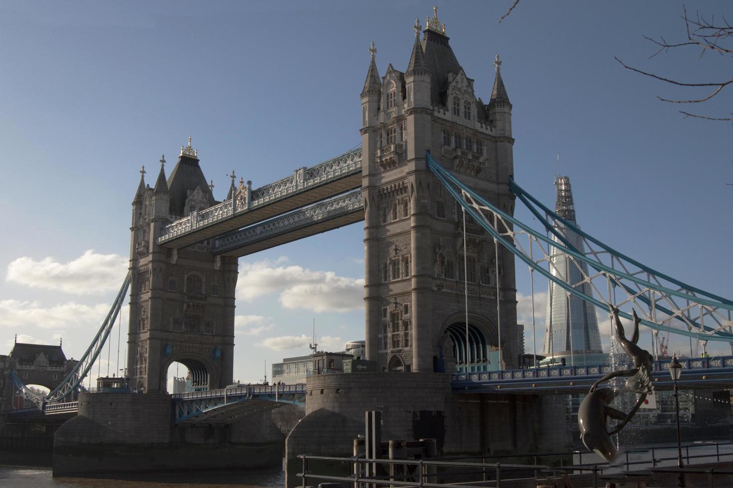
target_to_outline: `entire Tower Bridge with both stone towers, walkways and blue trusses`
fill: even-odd
[[[202,445],[211,442],[200,425],[217,426],[222,443],[270,442],[278,457],[273,446],[282,437],[268,430],[273,401],[306,404],[308,415],[287,438],[290,468],[305,451],[351,452],[364,410],[383,412],[386,435],[436,438],[447,453],[556,449],[569,441],[564,400],[540,393],[586,388],[603,365],[517,369],[524,347],[515,258],[588,306],[625,307],[624,317],[634,306],[652,329],[733,342],[732,301],[627,258],[517,184],[512,103],[498,56],[493,83],[476,83],[437,11],[424,29],[416,22],[414,32],[404,71],[389,64],[380,76],[373,43],[369,49],[357,149],[255,189],[243,178],[237,186],[232,171],[221,202],[191,138],[169,176],[161,157],[152,187],[141,170],[129,274],[84,357],[37,401],[49,408],[78,393],[128,287],[129,383],[144,393],[81,394],[78,416],[56,434],[65,453],[59,470],[83,470],[90,442],[110,446],[93,454],[113,468],[119,446],[145,464],[159,454],[150,446],[195,445],[180,458],[195,466],[205,462]],[[527,206],[539,228],[515,219],[515,204]],[[377,372],[317,375],[304,388],[281,387],[287,392],[229,391],[237,258],[361,220],[366,356]],[[563,267],[555,264],[559,254],[567,259]],[[564,276],[570,269],[578,270],[573,285]],[[705,372],[690,364],[696,371],[690,378],[727,384],[729,360],[706,363]],[[195,372],[194,387],[202,391],[165,394],[166,372],[176,361]],[[664,386],[661,376],[655,379]],[[32,397],[22,383],[18,389]],[[141,449],[141,442],[150,446]]]

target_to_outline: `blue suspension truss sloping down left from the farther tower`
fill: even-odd
[[[122,307],[122,303],[125,301],[125,296],[127,296],[129,286],[130,273],[128,272],[125,280],[122,282],[122,287],[119,288],[117,297],[114,299],[114,303],[112,304],[112,307],[109,310],[107,317],[104,319],[102,326],[100,326],[94,339],[92,339],[91,344],[89,344],[89,347],[86,348],[84,356],[81,356],[81,359],[79,359],[73,369],[68,372],[66,378],[64,378],[62,382],[59,383],[58,386],[56,386],[56,388],[49,391],[47,395],[39,395],[31,389],[27,388],[26,385],[23,383],[23,380],[21,380],[21,378],[18,378],[18,375],[15,375],[15,372],[11,370],[10,377],[15,384],[16,390],[18,390],[23,398],[31,400],[37,405],[38,408],[40,408],[41,410],[45,410],[46,404],[62,402],[62,400],[68,399],[75,392],[79,391],[79,389],[84,388],[81,383],[86,378],[86,375],[89,375],[89,371],[92,369],[92,366],[99,357],[99,353],[102,351],[104,345],[106,344],[107,338],[109,337],[109,332],[111,331],[112,326],[114,326],[114,321],[117,320],[119,309]]]

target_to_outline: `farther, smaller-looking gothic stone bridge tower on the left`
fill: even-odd
[[[194,388],[221,388],[232,383],[237,258],[215,257],[211,240],[184,249],[155,244],[163,224],[218,203],[191,138],[167,181],[165,162],[152,188],[143,167],[133,200],[130,385],[166,391],[168,367],[178,361]]]

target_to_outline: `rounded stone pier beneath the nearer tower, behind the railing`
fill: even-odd
[[[562,397],[461,394],[452,391],[450,375],[441,373],[316,375],[306,383],[306,417],[285,442],[287,487],[301,484],[295,476],[302,468],[298,454],[351,456],[368,410],[382,413],[383,441],[435,438],[444,455],[531,454],[571,444]],[[310,470],[331,468],[345,470]]]

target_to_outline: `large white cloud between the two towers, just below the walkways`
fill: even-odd
[[[339,277],[333,271],[311,271],[301,266],[278,266],[284,260],[243,263],[237,298],[252,301],[279,293],[283,307],[317,313],[364,307],[364,279]]]

